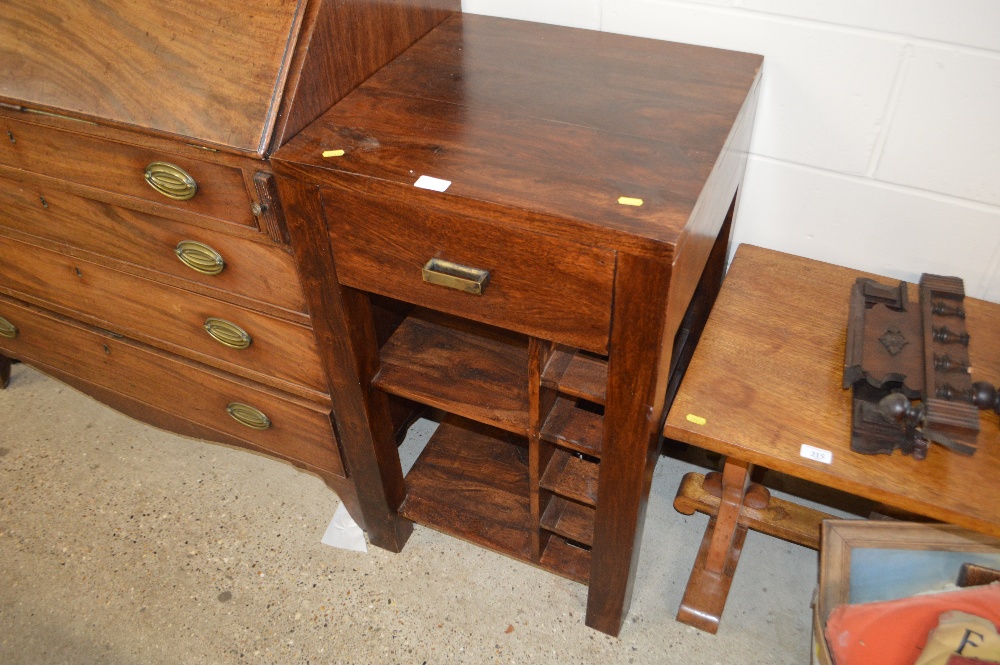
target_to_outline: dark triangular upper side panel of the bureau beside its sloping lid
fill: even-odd
[[[290,67],[272,149],[459,8],[458,0],[312,3],[300,37],[308,48]]]

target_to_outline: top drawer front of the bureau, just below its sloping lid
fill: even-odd
[[[245,226],[257,225],[239,169],[7,118],[0,118],[0,129],[0,164]],[[173,165],[190,177],[196,185],[190,199],[171,198],[150,185],[147,168],[160,163]],[[177,174],[154,169],[151,178],[175,195],[190,193],[180,185],[182,176]]]

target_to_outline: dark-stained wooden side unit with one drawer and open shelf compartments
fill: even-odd
[[[760,66],[455,16],[279,151],[375,542],[413,520],[587,583],[587,624],[618,633]],[[388,395],[449,414],[405,480]]]

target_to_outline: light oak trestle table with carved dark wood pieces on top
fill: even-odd
[[[726,455],[721,483],[689,475],[675,501],[682,512],[711,515],[679,620],[718,629],[748,528],[818,547],[826,516],[769,499],[749,482],[754,465],[1000,535],[996,415],[981,413],[985,443],[972,457],[937,446],[924,461],[851,452],[851,392],[841,381],[857,277],[892,283],[750,245],[737,250],[664,428],[671,439]],[[965,303],[973,378],[995,384],[1000,305]],[[829,452],[832,461],[803,457],[803,444]]]

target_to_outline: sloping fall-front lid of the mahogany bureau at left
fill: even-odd
[[[3,0],[0,96],[256,150],[306,4]]]

